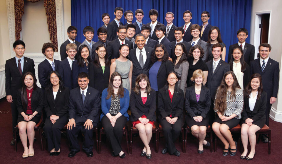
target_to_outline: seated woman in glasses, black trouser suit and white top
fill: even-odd
[[[61,152],[61,129],[68,121],[68,102],[70,91],[64,87],[63,79],[57,71],[48,76],[48,87],[44,93],[44,110],[46,112],[44,131],[50,156]]]

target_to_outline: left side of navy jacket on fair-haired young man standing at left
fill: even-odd
[[[68,87],[70,90],[73,89],[73,83],[72,83],[73,73],[71,71],[70,64],[67,58],[64,59],[58,66],[58,73],[61,75],[63,79],[64,86]]]

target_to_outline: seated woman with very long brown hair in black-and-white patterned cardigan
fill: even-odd
[[[236,127],[241,119],[244,105],[243,90],[240,88],[237,78],[232,71],[224,74],[220,86],[217,88],[214,99],[214,111],[217,117],[212,124],[212,130],[223,142],[223,156],[235,156],[237,142],[233,140],[229,129]]]

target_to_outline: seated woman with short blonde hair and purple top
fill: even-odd
[[[192,135],[199,139],[198,153],[204,153],[204,146],[211,146],[205,140],[207,127],[209,126],[209,112],[211,106],[211,93],[209,88],[203,85],[204,72],[200,69],[194,71],[191,81],[194,85],[186,90],[185,94],[185,117],[186,124],[190,127]]]

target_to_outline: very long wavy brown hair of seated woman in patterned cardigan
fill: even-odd
[[[239,86],[239,83],[237,81],[237,78],[236,78],[234,72],[232,72],[232,71],[226,72],[224,74],[224,77],[221,80],[221,83],[220,83],[219,87],[217,88],[216,100],[214,102],[214,104],[215,104],[214,109],[217,109],[221,114],[223,114],[224,111],[227,108],[227,105],[226,105],[226,93],[227,93],[228,86],[225,83],[225,77],[227,75],[229,75],[229,74],[231,74],[233,79],[234,79],[234,82],[232,84],[232,91],[231,91],[230,99],[233,97],[234,100],[235,100],[236,99],[236,96],[235,96],[236,88],[240,88],[241,89],[241,87]]]

